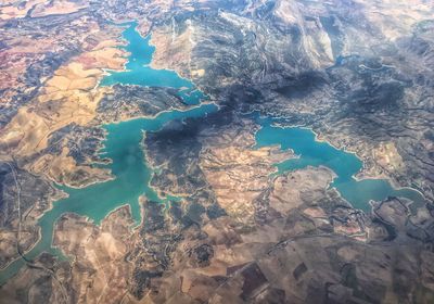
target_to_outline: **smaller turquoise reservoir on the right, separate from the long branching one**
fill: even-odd
[[[354,176],[362,169],[362,162],[354,154],[339,150],[327,142],[316,140],[310,129],[275,126],[278,119],[259,118],[256,121],[261,128],[256,134],[257,147],[279,144],[282,150],[292,149],[297,159],[291,159],[276,164],[278,174],[307,166],[326,166],[337,177],[330,187],[336,188],[341,197],[354,207],[370,211],[369,202],[385,200],[388,197],[399,197],[412,200],[416,205],[425,202],[423,195],[411,188],[395,189],[386,179],[361,179]]]

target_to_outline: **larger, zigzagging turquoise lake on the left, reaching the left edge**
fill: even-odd
[[[155,71],[143,66],[151,62],[154,48],[149,45],[149,37],[142,38],[136,30],[136,23],[128,25],[124,38],[129,41],[126,49],[130,52],[127,72],[114,72],[106,76],[101,85],[129,84],[141,86],[171,87],[179,90],[179,94],[188,104],[199,104],[204,99],[203,93],[194,85],[171,71]],[[131,63],[132,61],[132,63]],[[139,197],[165,203],[168,198],[159,198],[149,187],[151,169],[146,165],[141,142],[144,131],[161,129],[166,123],[188,117],[203,117],[207,113],[217,111],[217,105],[204,103],[194,105],[188,111],[162,112],[155,118],[138,118],[118,124],[104,126],[107,137],[101,151],[102,157],[108,157],[112,163],[105,167],[112,170],[115,179],[94,183],[86,188],[74,189],[60,187],[68,197],[53,203],[53,208],[47,212],[38,221],[41,227],[41,239],[28,253],[27,259],[34,259],[42,252],[50,252],[64,258],[51,246],[54,223],[64,213],[77,213],[88,216],[95,224],[116,207],[129,204],[136,224],[140,224]],[[101,165],[99,165],[101,166]],[[176,199],[176,198],[170,198]],[[0,284],[14,276],[26,262],[23,258],[11,263],[0,271]]]

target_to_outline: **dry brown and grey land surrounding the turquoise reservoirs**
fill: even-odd
[[[158,200],[143,183],[140,223],[125,201],[101,223],[64,213],[62,256],[27,258],[66,187],[117,178],[107,125],[197,106],[183,88],[101,85],[127,71],[128,22],[151,35],[150,67],[218,110],[142,132]],[[23,262],[0,303],[434,303],[431,1],[5,0],[0,38],[0,277]],[[257,147],[252,113],[425,203],[363,211],[327,165],[277,174],[299,155]]]

